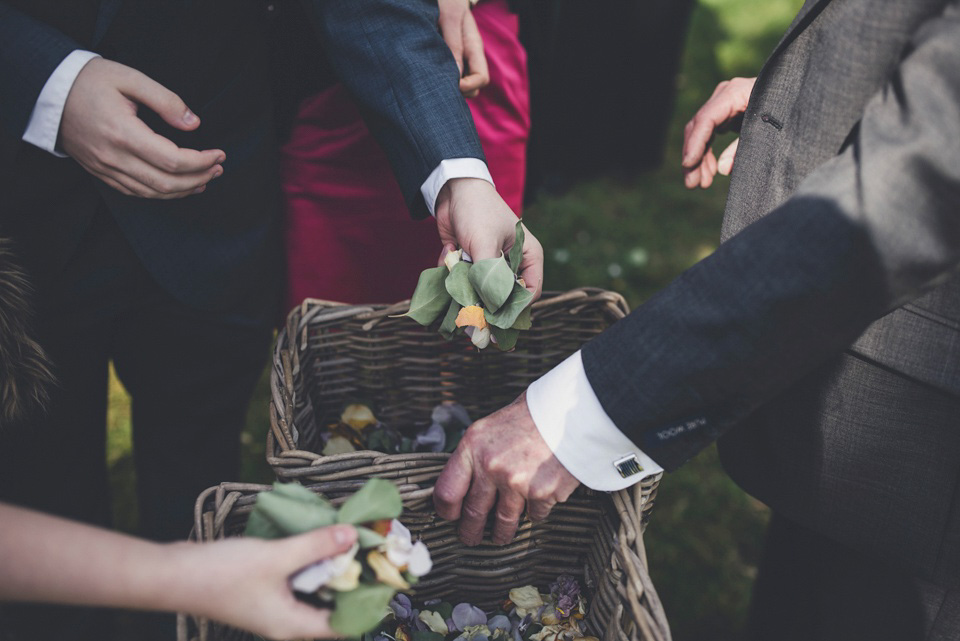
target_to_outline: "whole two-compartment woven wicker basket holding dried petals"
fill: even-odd
[[[407,302],[355,306],[307,300],[290,313],[277,339],[271,378],[267,460],[284,481],[310,485],[335,502],[373,477],[389,478],[404,502],[404,523],[430,547],[434,570],[416,587],[418,600],[467,601],[493,609],[511,588],[541,590],[560,574],[581,579],[590,599],[587,623],[604,641],[668,641],[670,631],[646,570],[642,530],[658,478],[614,494],[580,488],[546,521],[521,523],[506,546],[468,548],[456,525],[439,519],[431,496],[448,454],[351,452],[325,457],[321,430],[344,406],[368,404],[397,429],[424,425],[443,401],[461,403],[474,419],[512,401],[536,378],[627,313],[623,297],[600,289],[544,294],[533,327],[517,349],[478,352],[466,339],[395,318]],[[197,504],[201,540],[242,531],[257,486],[222,485]],[[189,625],[188,625],[189,623]],[[181,641],[242,639],[227,628],[181,619]]]

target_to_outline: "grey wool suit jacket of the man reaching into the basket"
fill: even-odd
[[[667,469],[729,430],[775,510],[956,588],[960,3],[809,0],[751,96],[724,238],[586,346],[603,407]],[[879,372],[955,424],[906,398],[858,420]]]

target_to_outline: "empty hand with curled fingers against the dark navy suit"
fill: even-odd
[[[77,76],[60,123],[64,151],[128,196],[183,198],[223,173],[219,149],[181,149],[137,117],[138,104],[170,126],[192,131],[200,119],[173,92],[135,69],[96,58]]]

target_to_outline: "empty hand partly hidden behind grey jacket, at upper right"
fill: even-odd
[[[713,184],[718,171],[724,176],[730,174],[740,139],[730,143],[719,160],[714,157],[710,143],[715,133],[726,131],[747,110],[756,81],[756,78],[724,80],[684,127],[683,182],[688,189],[698,185],[706,189]]]

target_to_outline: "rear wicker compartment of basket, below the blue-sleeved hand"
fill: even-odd
[[[267,462],[281,480],[390,478],[416,486],[411,507],[429,503],[447,454],[361,451],[325,457],[320,429],[350,402],[365,402],[384,423],[401,428],[429,418],[445,400],[475,420],[513,401],[527,386],[628,312],[619,294],[575,289],[544,294],[533,305],[533,328],[509,353],[448,342],[393,306],[306,300],[280,332],[271,376]],[[419,501],[419,504],[418,504]]]

